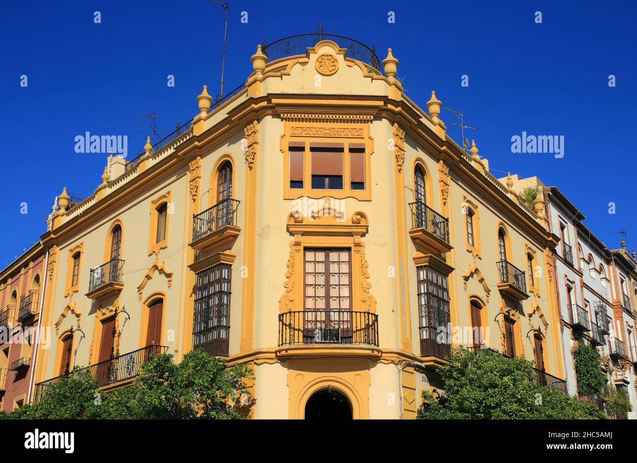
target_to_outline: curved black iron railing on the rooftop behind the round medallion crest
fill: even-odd
[[[266,45],[263,41],[262,52],[268,57],[268,61],[275,61],[290,56],[304,55],[307,48],[315,46],[322,40],[331,40],[340,48],[347,48],[347,57],[369,64],[374,69],[380,69],[380,60],[376,56],[375,47],[369,48],[361,42],[343,36],[326,34],[319,29],[313,34],[299,34],[286,37]]]

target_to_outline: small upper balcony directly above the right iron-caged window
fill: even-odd
[[[419,251],[424,254],[444,254],[454,249],[449,244],[449,219],[420,201],[410,203],[409,207],[412,210],[409,235]]]

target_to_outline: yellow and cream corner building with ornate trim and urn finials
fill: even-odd
[[[391,50],[310,45],[259,46],[245,85],[214,104],[204,86],[161,146],[59,196],[35,399],[73,366],[108,390],[195,348],[252,368],[253,418],[415,418],[460,344],[559,387],[543,203],[448,137],[434,92],[408,98]]]

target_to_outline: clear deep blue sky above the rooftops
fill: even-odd
[[[614,231],[625,229],[629,248],[637,248],[637,10],[627,2],[554,3],[231,1],[225,88],[247,78],[257,43],[314,32],[318,22],[374,43],[380,60],[391,47],[413,100],[424,107],[436,90],[480,127],[469,139],[494,175],[540,176],[559,186],[606,245],[619,247]],[[100,183],[106,156],[75,153],[76,135],[128,135],[131,155],[145,141],[136,126],[147,120],[138,114],[154,109],[166,135],[197,113],[204,84],[218,91],[225,15],[210,0],[3,2],[0,9],[2,268],[45,231],[62,186],[87,196]],[[387,22],[390,10],[395,24]],[[542,24],[534,22],[538,10]],[[459,141],[454,117],[441,116]],[[522,131],[564,135],[564,158],[513,154],[511,137]]]

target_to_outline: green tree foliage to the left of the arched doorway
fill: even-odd
[[[225,359],[203,350],[189,352],[180,364],[173,354],[160,354],[143,364],[128,387],[101,392],[94,377],[75,374],[48,386],[38,403],[0,418],[241,418],[248,401],[240,394],[251,375],[246,366],[227,368]]]

